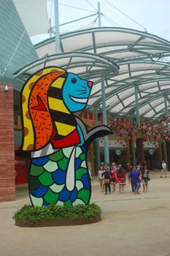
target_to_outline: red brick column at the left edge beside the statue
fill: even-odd
[[[0,202],[15,200],[13,87],[0,84]]]

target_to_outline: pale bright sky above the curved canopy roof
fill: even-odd
[[[101,26],[118,26],[139,31],[147,29],[148,33],[170,41],[170,0],[58,0],[60,24],[95,14],[98,1],[104,15],[101,16]],[[54,26],[53,0],[47,0],[47,10]],[[61,26],[60,31],[63,34],[66,31],[83,29],[93,23],[96,17]],[[35,44],[48,37],[49,34],[41,34],[31,37],[31,40]]]

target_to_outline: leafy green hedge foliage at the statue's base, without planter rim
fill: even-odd
[[[42,219],[92,219],[101,214],[101,208],[95,203],[89,205],[69,206],[30,206],[26,205],[16,211],[13,219],[30,220]]]

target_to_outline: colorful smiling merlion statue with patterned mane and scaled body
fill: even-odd
[[[87,151],[106,126],[91,129],[74,116],[85,108],[93,83],[59,67],[45,67],[21,91],[23,140],[30,153],[29,195],[33,206],[75,206],[90,201]]]

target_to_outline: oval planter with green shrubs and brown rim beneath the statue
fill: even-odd
[[[101,208],[95,203],[69,206],[23,206],[13,219],[20,227],[83,225],[101,220]]]

